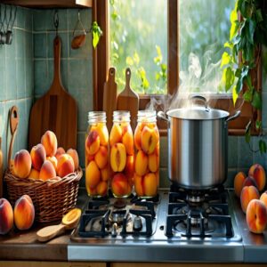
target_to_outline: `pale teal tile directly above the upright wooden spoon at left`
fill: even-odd
[[[16,64],[13,60],[5,60],[6,100],[14,100],[17,97]]]

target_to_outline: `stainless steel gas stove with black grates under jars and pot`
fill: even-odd
[[[227,190],[171,187],[157,198],[88,199],[68,254],[72,261],[241,262],[241,241]]]

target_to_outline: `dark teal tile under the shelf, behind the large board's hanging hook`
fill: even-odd
[[[55,30],[53,24],[55,10],[36,10],[33,14],[34,31],[53,31]],[[59,14],[59,30],[67,30],[67,10],[61,9]]]

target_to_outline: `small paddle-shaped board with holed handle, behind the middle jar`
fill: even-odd
[[[117,96],[117,110],[129,110],[131,113],[131,125],[134,131],[139,109],[139,96],[130,87],[131,69],[125,70],[125,89]]]

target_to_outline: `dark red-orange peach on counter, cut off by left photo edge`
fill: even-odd
[[[0,235],[4,235],[12,230],[13,210],[9,201],[0,198]]]

